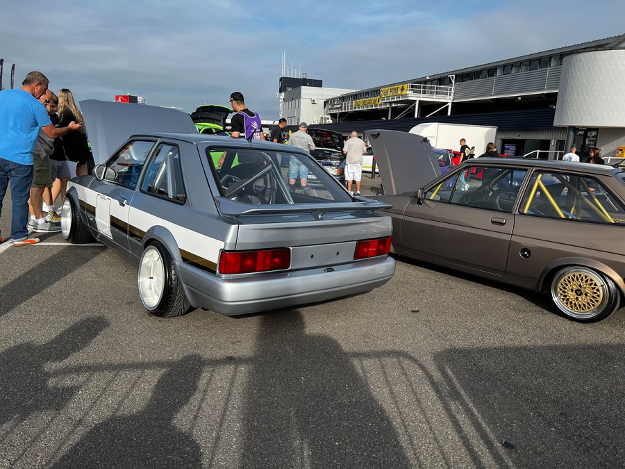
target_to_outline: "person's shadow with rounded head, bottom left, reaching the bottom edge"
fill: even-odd
[[[56,468],[198,468],[201,448],[173,420],[197,390],[197,355],[185,356],[163,373],[143,411],[96,425]]]

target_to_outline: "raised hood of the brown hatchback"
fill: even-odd
[[[376,156],[385,195],[415,192],[440,176],[434,150],[421,135],[390,130],[365,134]]]

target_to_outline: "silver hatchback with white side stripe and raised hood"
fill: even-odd
[[[69,183],[63,237],[95,238],[136,263],[151,313],[265,311],[392,277],[384,204],[351,197],[308,152],[202,135],[173,109],[94,100],[81,109],[103,163]],[[306,166],[315,188],[290,192],[283,157]]]

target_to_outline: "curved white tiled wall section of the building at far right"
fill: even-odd
[[[553,125],[625,129],[625,49],[565,56]]]

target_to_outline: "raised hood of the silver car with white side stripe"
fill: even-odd
[[[80,104],[97,165],[106,162],[135,133],[197,133],[191,116],[177,109],[97,99]]]

